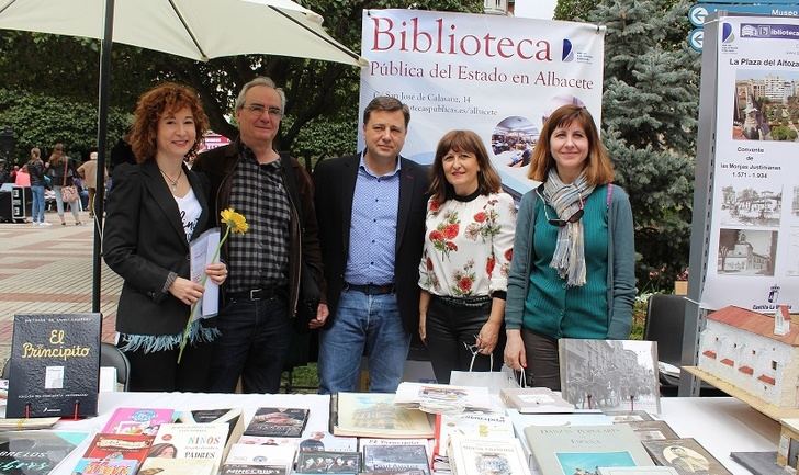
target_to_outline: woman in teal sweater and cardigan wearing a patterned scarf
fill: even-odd
[[[626,339],[635,298],[632,211],[585,108],[544,123],[521,199],[505,309],[505,362],[560,391],[559,338]]]

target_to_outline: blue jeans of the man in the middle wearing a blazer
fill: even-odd
[[[342,291],[333,326],[319,335],[319,394],[355,392],[365,347],[369,391],[394,393],[403,377],[410,335],[395,294]]]

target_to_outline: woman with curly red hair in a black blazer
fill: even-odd
[[[131,361],[131,391],[202,392],[207,387],[211,341],[204,319],[195,320],[178,353],[192,305],[203,286],[190,276],[189,242],[214,225],[207,181],[183,165],[207,118],[190,88],[164,83],[138,100],[131,145],[138,165],[114,170],[103,257],[122,279],[116,312],[117,347]],[[205,267],[216,284],[224,263]]]

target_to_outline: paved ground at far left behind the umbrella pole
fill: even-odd
[[[56,213],[45,214],[53,226],[0,223],[0,363],[9,357],[14,314],[91,312],[93,224],[87,212],[82,226],[66,217],[67,226]],[[103,341],[113,341],[121,289],[103,264]]]

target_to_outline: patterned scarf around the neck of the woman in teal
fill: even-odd
[[[582,207],[583,201],[594,191],[581,172],[574,182],[563,184],[558,171],[552,167],[543,184],[543,197],[558,213],[561,219],[569,219]],[[566,279],[569,286],[585,285],[585,255],[583,248],[583,219],[567,223],[558,229],[558,242],[550,267],[558,271],[561,279]]]

